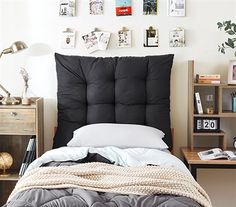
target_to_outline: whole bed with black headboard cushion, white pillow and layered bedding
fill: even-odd
[[[55,54],[58,127],[4,207],[210,207],[170,153],[173,55]]]

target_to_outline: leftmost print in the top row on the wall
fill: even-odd
[[[59,16],[75,16],[75,0],[60,0]]]

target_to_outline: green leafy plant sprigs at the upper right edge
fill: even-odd
[[[225,50],[228,48],[235,49],[236,48],[236,23],[231,22],[231,20],[217,22],[217,26],[219,30],[223,30],[225,33],[229,35],[229,38],[226,42],[218,45],[218,52],[225,54]],[[234,56],[236,57],[236,51],[234,51]]]

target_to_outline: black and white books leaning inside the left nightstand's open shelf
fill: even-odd
[[[24,175],[29,164],[36,158],[36,137],[32,136],[28,142],[28,146],[25,151],[25,155],[21,164],[19,175]]]

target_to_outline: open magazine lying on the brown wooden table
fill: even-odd
[[[198,153],[201,160],[215,160],[215,159],[228,159],[236,160],[236,152],[220,148],[212,148],[210,150],[201,151]]]

